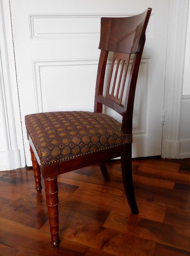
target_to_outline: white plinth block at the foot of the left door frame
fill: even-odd
[[[21,168],[20,150],[0,152],[0,171]]]

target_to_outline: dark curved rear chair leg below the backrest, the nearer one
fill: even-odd
[[[124,145],[124,156],[121,157],[121,170],[124,182],[125,194],[133,214],[138,214],[139,210],[136,204],[132,177],[132,154],[131,143]]]

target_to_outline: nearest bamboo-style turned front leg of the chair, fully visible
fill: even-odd
[[[57,176],[44,179],[46,204],[49,217],[49,226],[51,232],[51,243],[54,247],[58,247],[59,240],[59,211],[58,211],[58,187]]]

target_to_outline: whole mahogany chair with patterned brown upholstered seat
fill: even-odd
[[[58,246],[60,242],[57,186],[59,174],[99,163],[105,181],[109,181],[105,162],[121,156],[126,197],[131,211],[134,214],[139,213],[132,180],[132,117],[137,75],[150,13],[151,8],[132,17],[101,18],[99,44],[101,52],[93,113],[71,111],[25,116],[37,192],[41,192],[42,188],[41,174],[45,181],[53,246]],[[113,52],[113,59],[104,96],[105,68],[109,51]],[[126,82],[126,94],[123,95],[131,54],[134,56],[128,84]],[[114,63],[117,64],[112,86]],[[117,79],[119,66],[121,71]],[[124,105],[122,104],[123,97],[125,98]],[[122,115],[122,124],[102,113],[103,104]]]

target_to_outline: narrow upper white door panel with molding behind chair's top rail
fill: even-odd
[[[30,39],[99,37],[101,17],[129,17],[136,14],[30,14]],[[79,25],[80,24],[80,25]],[[150,15],[146,37],[153,38],[154,14]],[[67,28],[69,27],[69,31]]]

